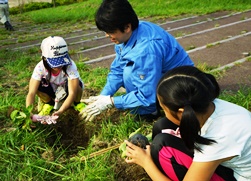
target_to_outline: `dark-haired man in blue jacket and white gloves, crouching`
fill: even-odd
[[[96,12],[96,25],[115,45],[116,57],[99,96],[80,113],[92,120],[102,111],[115,107],[129,109],[136,119],[153,121],[160,116],[156,86],[170,69],[194,63],[178,41],[160,26],[139,21],[127,0],[104,0]],[[126,93],[113,96],[120,87]]]

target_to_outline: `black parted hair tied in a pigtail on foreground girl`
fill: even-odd
[[[160,79],[157,94],[161,103],[173,114],[184,108],[180,134],[189,149],[202,151],[198,143],[210,145],[216,142],[200,136],[200,123],[196,117],[196,113],[205,113],[209,104],[220,94],[220,87],[213,75],[192,66],[174,68]]]

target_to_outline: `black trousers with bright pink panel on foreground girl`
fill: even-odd
[[[183,180],[193,161],[193,152],[188,150],[180,137],[162,133],[163,129],[176,130],[177,125],[167,118],[159,119],[153,126],[151,156],[159,170],[174,181]],[[236,181],[233,171],[218,166],[211,181]]]

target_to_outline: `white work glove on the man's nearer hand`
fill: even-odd
[[[85,121],[92,121],[95,116],[113,106],[111,96],[100,95],[95,97],[98,97],[97,100],[86,106],[83,111],[79,113],[80,117]]]

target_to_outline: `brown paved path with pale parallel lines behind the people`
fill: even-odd
[[[240,87],[251,86],[251,10],[217,12],[156,23],[176,37],[196,65],[203,65],[212,72],[221,70],[218,81],[222,89],[236,91]],[[69,30],[63,25],[55,30],[49,24],[38,27],[16,23],[14,26],[17,33],[33,36],[33,40],[10,36],[8,40],[0,41],[2,48],[26,51],[39,47],[44,37],[58,33],[66,39],[75,61],[85,61],[94,67],[109,67],[115,56],[114,44],[92,25],[88,25],[87,30]]]

